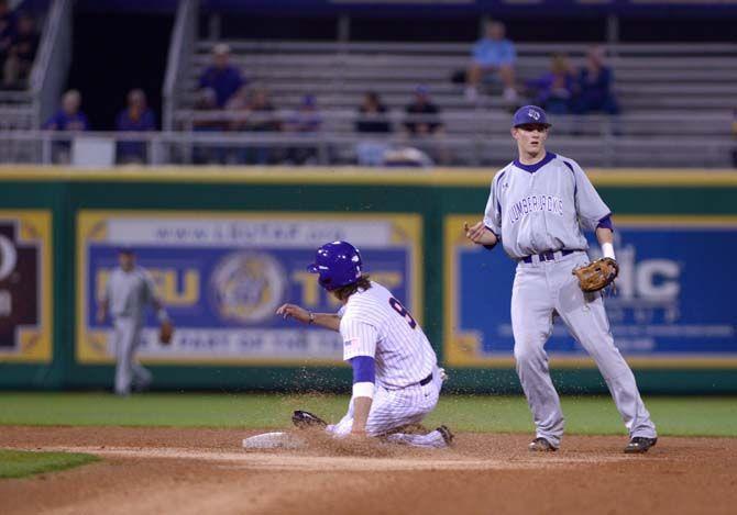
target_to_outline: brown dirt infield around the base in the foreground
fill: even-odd
[[[737,439],[663,438],[625,456],[623,437],[566,437],[554,454],[528,435],[461,434],[449,450],[337,444],[245,451],[257,432],[0,427],[0,447],[103,460],[0,480],[3,514],[734,513]]]

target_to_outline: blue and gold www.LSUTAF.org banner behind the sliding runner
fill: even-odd
[[[152,276],[177,331],[157,344],[148,310],[139,356],[144,362],[334,365],[340,336],[275,316],[292,302],[337,312],[338,301],[307,272],[316,249],[351,242],[365,271],[418,316],[422,312],[421,220],[415,214],[80,211],[77,217],[77,360],[113,361],[110,322],[96,310],[118,249],[130,248]]]

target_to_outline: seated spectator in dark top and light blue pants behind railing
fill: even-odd
[[[355,131],[364,134],[375,134],[376,136],[392,133],[393,127],[388,117],[388,110],[382,103],[377,92],[367,91],[364,94],[363,103],[359,105]],[[382,166],[384,154],[388,148],[388,143],[380,137],[361,141],[355,146],[356,160],[361,166]]]

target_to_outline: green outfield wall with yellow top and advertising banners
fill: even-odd
[[[501,249],[470,247],[460,231],[481,217],[493,172],[0,168],[0,387],[111,387],[109,327],[90,311],[114,248],[133,235],[180,328],[174,348],[142,352],[154,388],[346,390],[339,344],[264,315],[277,301],[329,309],[300,267],[311,242],[346,234],[362,242],[369,271],[395,286],[421,321],[450,390],[517,392],[504,307],[513,264]],[[641,389],[736,393],[737,173],[590,177],[631,250],[610,316]],[[605,392],[571,338],[554,338],[560,390]]]

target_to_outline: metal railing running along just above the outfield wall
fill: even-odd
[[[732,165],[737,146],[722,137],[640,137],[558,135],[554,152],[584,166],[697,167]],[[1,163],[110,166],[158,165],[386,165],[421,155],[443,166],[502,166],[516,154],[507,134],[477,133],[413,136],[317,131],[290,132],[147,132],[65,133],[0,132]],[[413,154],[414,153],[414,154]],[[132,159],[131,159],[132,157]],[[411,157],[407,157],[411,160]]]

